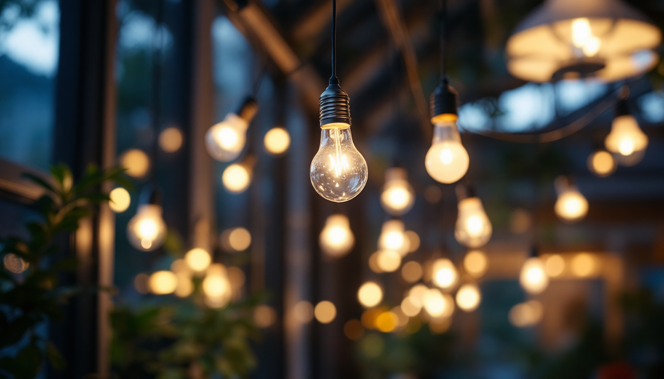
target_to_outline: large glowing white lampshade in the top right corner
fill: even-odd
[[[507,69],[532,82],[615,82],[659,61],[661,31],[620,0],[546,0],[507,40]]]

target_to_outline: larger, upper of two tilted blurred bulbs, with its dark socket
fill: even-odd
[[[246,131],[256,112],[256,100],[246,98],[238,112],[227,114],[224,121],[210,127],[205,134],[205,147],[210,156],[220,162],[236,159],[244,149]]]

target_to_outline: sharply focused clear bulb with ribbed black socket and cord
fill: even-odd
[[[319,105],[321,144],[311,161],[311,185],[323,198],[345,202],[365,188],[369,170],[353,145],[350,99],[337,78],[336,0],[332,0],[332,76]]]

